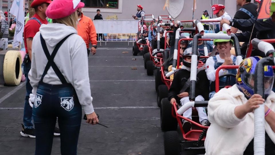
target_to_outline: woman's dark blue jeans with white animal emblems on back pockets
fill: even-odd
[[[56,117],[60,128],[61,154],[76,154],[82,110],[72,85],[40,83],[34,101],[33,117],[36,155],[51,154]]]

